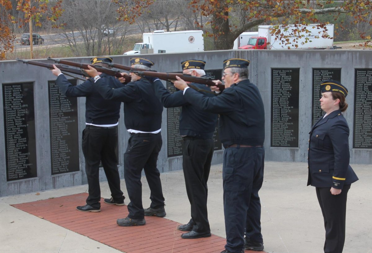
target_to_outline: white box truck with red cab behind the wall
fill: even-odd
[[[299,25],[298,25],[299,26]],[[296,27],[294,24],[289,24],[286,26],[280,26],[280,33],[284,36],[289,36],[291,42],[288,45],[284,45],[280,39],[277,39],[275,34],[272,34],[273,26],[259,26],[258,36],[253,36],[249,39],[246,46],[241,46],[239,49],[327,49],[333,47],[333,24],[327,24],[327,31],[318,28],[317,24],[309,24],[306,29],[309,31],[301,32],[298,36],[294,37],[294,29],[302,29],[301,27]],[[327,37],[322,37],[323,35],[329,35],[331,39]],[[306,41],[306,38],[310,40]],[[297,42],[293,42],[296,39]]]

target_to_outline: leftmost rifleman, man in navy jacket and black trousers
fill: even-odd
[[[90,59],[92,64],[101,65],[101,62],[112,62],[110,57],[97,56]],[[102,161],[109,183],[111,198],[105,198],[106,204],[124,205],[124,195],[120,190],[120,176],[118,171],[118,120],[120,102],[105,101],[93,88],[93,78],[79,85],[68,82],[61,70],[54,66],[52,73],[57,77],[56,84],[67,97],[86,97],[85,102],[85,129],[83,130],[82,149],[85,158],[85,172],[88,180],[89,196],[85,206],[76,209],[83,212],[99,212],[101,191],[99,187],[99,164]],[[98,73],[111,88],[123,86],[118,79],[105,73]]]

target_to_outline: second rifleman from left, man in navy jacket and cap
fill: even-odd
[[[134,68],[149,70],[153,65],[153,62],[144,58],[131,59],[131,66]],[[103,98],[124,103],[124,123],[131,135],[124,153],[124,178],[131,200],[128,204],[129,214],[116,223],[124,227],[146,224],[145,210],[142,207],[142,169],[151,191],[151,210],[158,217],[166,216],[160,172],[157,168],[157,159],[163,144],[160,133],[163,106],[154,96],[152,83],[135,73],[129,73],[131,82],[122,88],[112,89],[105,80],[96,76],[97,70],[90,68],[87,73],[95,76],[93,87]]]

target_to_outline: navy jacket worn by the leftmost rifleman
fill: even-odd
[[[118,79],[102,73],[101,79],[105,80],[111,88],[123,86]],[[118,123],[120,116],[120,102],[106,101],[97,92],[92,84],[93,78],[79,84],[72,85],[65,75],[59,75],[55,83],[60,87],[67,97],[86,97],[85,101],[85,122],[94,125],[111,125]]]

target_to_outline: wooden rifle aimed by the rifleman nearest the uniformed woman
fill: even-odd
[[[184,75],[182,73],[161,73],[161,72],[151,72],[151,71],[131,71],[132,73],[135,73],[139,76],[152,76],[157,77],[161,80],[170,81],[170,80],[177,80],[176,76],[181,78],[183,81],[186,82],[192,82],[192,83],[200,83],[205,84],[207,86],[217,86],[219,88],[219,91],[223,91],[225,89],[225,85],[223,84],[216,84],[214,83],[211,78],[205,78],[205,77],[196,77],[192,75]],[[189,85],[190,86],[190,85]],[[193,88],[190,86],[190,88]],[[195,87],[196,88],[196,87]]]

